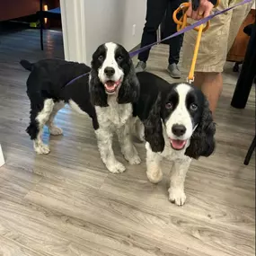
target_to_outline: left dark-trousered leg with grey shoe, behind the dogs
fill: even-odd
[[[168,0],[147,0],[146,3],[146,24],[143,30],[140,47],[145,47],[156,40],[156,31],[159,24],[163,20],[163,15],[167,9]],[[136,67],[136,71],[144,71],[146,69],[146,61],[149,56],[150,49],[141,52],[138,55],[140,61]]]

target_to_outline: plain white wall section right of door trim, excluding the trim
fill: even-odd
[[[96,47],[106,41],[118,42],[128,50],[140,43],[146,0],[85,0],[84,6],[87,61]]]

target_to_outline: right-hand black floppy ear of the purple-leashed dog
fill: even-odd
[[[129,72],[124,76],[124,80],[119,88],[119,104],[137,102],[139,96],[139,82],[133,66],[132,60],[128,60]]]

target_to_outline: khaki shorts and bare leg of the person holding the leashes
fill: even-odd
[[[234,3],[223,0],[217,9],[223,10],[232,4]],[[222,72],[227,52],[251,6],[251,4],[242,5],[224,15],[216,16],[211,21],[210,28],[203,33],[194,84],[207,96],[213,113],[223,88]],[[187,70],[190,68],[196,37],[195,31],[187,32],[184,36],[182,63]]]

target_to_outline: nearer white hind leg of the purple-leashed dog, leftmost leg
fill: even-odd
[[[36,121],[38,124],[38,134],[36,138],[33,140],[34,149],[38,154],[49,154],[49,146],[45,145],[42,142],[41,134],[43,131],[43,127],[46,122],[49,120],[49,116],[53,110],[54,102],[51,99],[45,100],[43,109],[38,113],[36,117]]]

